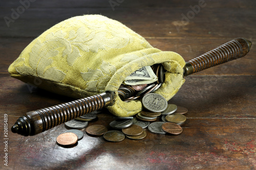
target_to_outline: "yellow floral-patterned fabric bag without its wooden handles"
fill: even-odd
[[[158,63],[167,72],[164,83],[155,92],[169,100],[185,81],[185,61],[179,54],[152,47],[116,20],[83,15],[64,20],[42,33],[8,71],[25,83],[76,99],[114,91],[110,112],[133,116],[142,110],[141,101],[123,102],[117,90],[135,70]]]

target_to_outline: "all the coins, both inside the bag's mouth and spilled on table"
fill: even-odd
[[[152,70],[151,70],[152,68]],[[60,134],[57,137],[57,143],[62,146],[74,145],[78,140],[82,139],[83,132],[78,129],[86,128],[86,133],[92,136],[101,136],[107,141],[120,142],[126,138],[139,140],[146,137],[148,129],[154,134],[173,134],[177,135],[182,132],[180,125],[184,124],[186,117],[183,115],[187,113],[184,107],[177,107],[174,104],[168,104],[166,99],[157,93],[153,93],[164,82],[164,68],[162,64],[155,64],[151,68],[146,68],[149,72],[157,77],[157,81],[149,84],[139,85],[124,85],[122,84],[118,89],[118,94],[121,100],[129,102],[135,99],[142,99],[142,105],[145,110],[141,111],[134,117],[114,117],[110,123],[112,128],[110,131],[102,125],[88,126],[88,121],[97,118],[94,113],[88,113],[77,117],[65,123],[65,126],[71,130]],[[138,73],[137,77],[139,77]],[[132,77],[132,76],[131,76]],[[136,82],[136,80],[132,80]],[[145,80],[143,80],[146,82]],[[161,122],[155,122],[157,118]],[[153,123],[150,123],[153,122]]]

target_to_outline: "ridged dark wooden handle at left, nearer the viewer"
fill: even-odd
[[[113,94],[106,92],[88,98],[27,112],[12,127],[13,133],[32,136],[71,119],[101,109],[113,103]]]

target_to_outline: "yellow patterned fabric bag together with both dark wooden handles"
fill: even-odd
[[[141,99],[122,101],[118,89],[156,81],[149,67],[164,68],[164,81],[154,93],[168,101],[184,83],[183,76],[243,57],[250,46],[237,38],[185,63],[179,54],[154,48],[116,20],[101,15],[67,19],[33,40],[8,71],[25,83],[79,100],[28,112],[12,131],[35,135],[102,107],[115,116],[133,116],[142,110]]]

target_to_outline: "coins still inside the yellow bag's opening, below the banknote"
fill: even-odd
[[[129,102],[132,100],[140,100],[148,93],[153,93],[164,82],[164,67],[162,64],[155,64],[151,66],[155,75],[158,77],[157,81],[150,84],[138,84],[138,85],[125,85],[122,84],[118,89],[118,95],[122,101]]]

